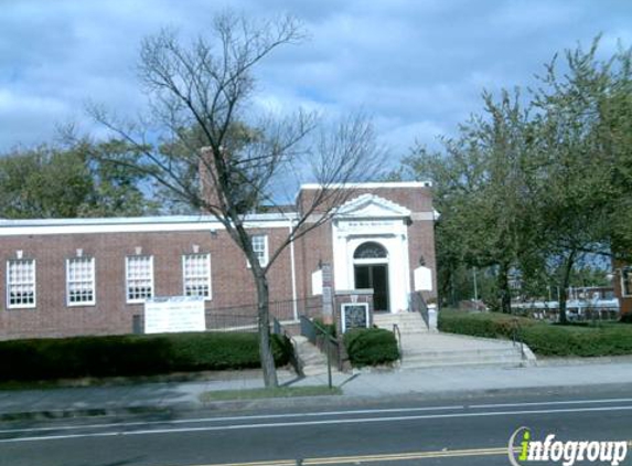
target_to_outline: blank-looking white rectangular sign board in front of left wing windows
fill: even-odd
[[[204,297],[171,296],[144,301],[144,332],[205,331]]]

